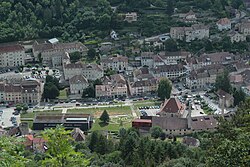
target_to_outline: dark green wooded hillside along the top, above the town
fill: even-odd
[[[176,7],[181,12],[212,9],[215,14],[226,16],[225,6],[238,9],[242,4],[242,0],[3,0],[0,42],[52,37],[84,42],[88,38],[104,38],[112,29],[122,33],[130,28],[150,36],[166,33],[170,26],[178,24],[170,17]],[[138,12],[140,18],[133,26],[124,22],[121,14],[132,11]]]

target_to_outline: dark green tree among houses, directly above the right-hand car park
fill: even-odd
[[[215,89],[216,90],[221,89],[227,93],[230,93],[231,84],[230,84],[229,75],[227,71],[224,71],[223,74],[216,76]]]

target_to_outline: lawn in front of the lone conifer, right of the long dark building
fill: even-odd
[[[118,120],[118,118],[112,118],[110,123],[108,125],[105,125],[99,119],[95,119],[95,123],[93,124],[91,131],[95,130],[119,131],[120,128],[128,129],[132,126],[132,120],[133,118],[130,116],[127,119],[123,118],[123,121],[121,123],[121,121]]]

